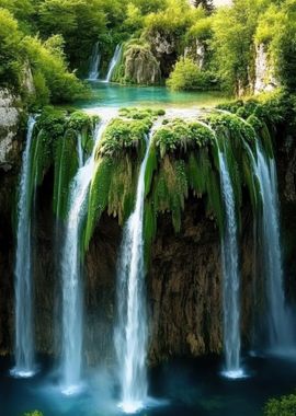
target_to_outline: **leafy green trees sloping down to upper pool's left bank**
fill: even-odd
[[[71,101],[82,93],[82,84],[67,69],[60,36],[42,42],[25,35],[5,9],[0,9],[0,85],[25,92],[39,104]]]

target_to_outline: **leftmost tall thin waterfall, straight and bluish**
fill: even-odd
[[[35,118],[27,124],[26,145],[22,159],[18,203],[15,275],[15,377],[32,377],[36,371],[33,328],[32,242],[31,242],[31,145]]]

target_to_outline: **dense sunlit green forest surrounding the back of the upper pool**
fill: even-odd
[[[295,88],[294,0],[236,0],[218,10],[210,1],[197,3],[1,0],[1,85],[31,93],[29,102],[38,104],[71,101],[87,93],[81,79],[99,43],[103,70],[115,46],[123,45],[113,77],[121,83],[167,81],[177,90],[251,93],[262,47],[269,77]],[[24,88],[29,77],[34,97]]]

